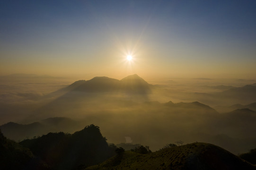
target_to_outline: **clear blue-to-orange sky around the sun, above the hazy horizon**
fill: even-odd
[[[1,0],[0,75],[253,79],[255,9],[256,0]]]

